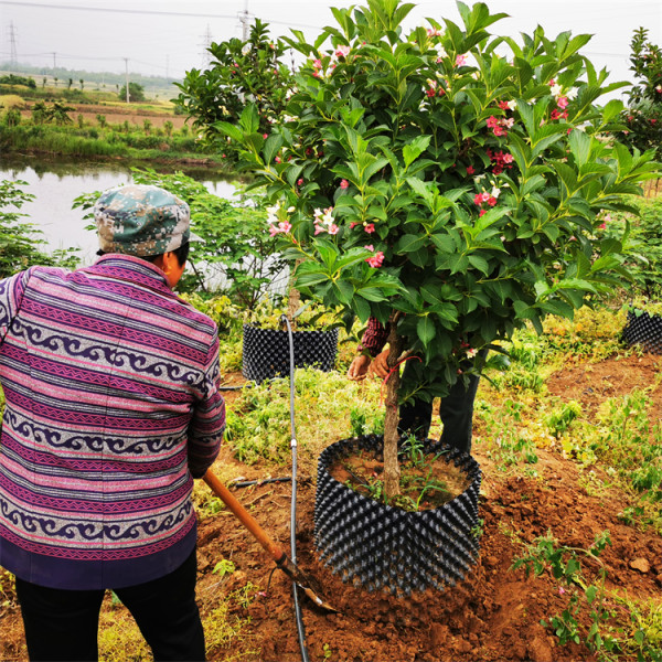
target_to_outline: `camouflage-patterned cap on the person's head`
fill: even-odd
[[[110,189],[94,205],[94,218],[105,253],[161,255],[197,238],[191,234],[189,205],[159,186]]]

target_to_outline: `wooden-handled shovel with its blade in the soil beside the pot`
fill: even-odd
[[[267,535],[253,515],[237,501],[234,494],[207,469],[202,480],[212,489],[239,522],[257,538],[257,542],[271,555],[276,565],[318,606],[328,611],[337,611],[323,600],[316,588],[316,581],[293,563],[282,549]]]

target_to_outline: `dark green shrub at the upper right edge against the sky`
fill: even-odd
[[[656,151],[662,145],[662,52],[649,41],[644,28],[634,31],[630,49],[630,71],[639,82],[630,89],[622,113],[624,129],[618,138],[641,151]]]

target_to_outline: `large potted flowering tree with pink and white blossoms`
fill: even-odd
[[[467,378],[468,357],[526,323],[540,330],[548,313],[572,317],[626,277],[627,235],[601,238],[599,214],[628,209],[623,194],[659,174],[651,152],[609,139],[622,103],[596,102],[624,83],[607,83],[607,72],[579,53],[589,35],[548,39],[538,28],[519,43],[488,31],[505,14],[461,2],[461,26],[429,20],[405,33],[412,8],[369,0],[334,9],[338,24],[314,43],[295,31],[286,42],[307,62],[279,121],[261,132],[248,105],[238,124],[216,124],[237,146],[239,167],[266,186],[270,233],[297,260],[301,292],[349,318],[389,324],[383,448],[391,501],[401,490],[398,403],[444,396]],[[414,356],[410,378],[401,380],[398,364]],[[318,476],[318,490],[324,482]],[[465,492],[457,511],[442,506],[433,522],[398,514],[391,524],[364,503],[367,519],[356,520],[359,506],[345,500],[316,509],[316,532],[341,531],[343,512],[346,531],[378,530],[376,547],[353,547],[345,533],[321,551],[345,564],[345,577],[367,584],[364,560],[393,556],[395,565],[380,572],[395,591],[398,564],[424,565],[409,552],[431,554],[429,572],[406,592],[453,580],[439,554],[466,547],[460,560],[471,559],[472,543],[462,538],[474,535],[477,496]],[[394,553],[398,545],[406,553]]]

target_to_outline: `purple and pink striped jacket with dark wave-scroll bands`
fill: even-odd
[[[145,260],[0,280],[0,565],[67,589],[179,567],[225,426],[218,376],[214,322]]]

